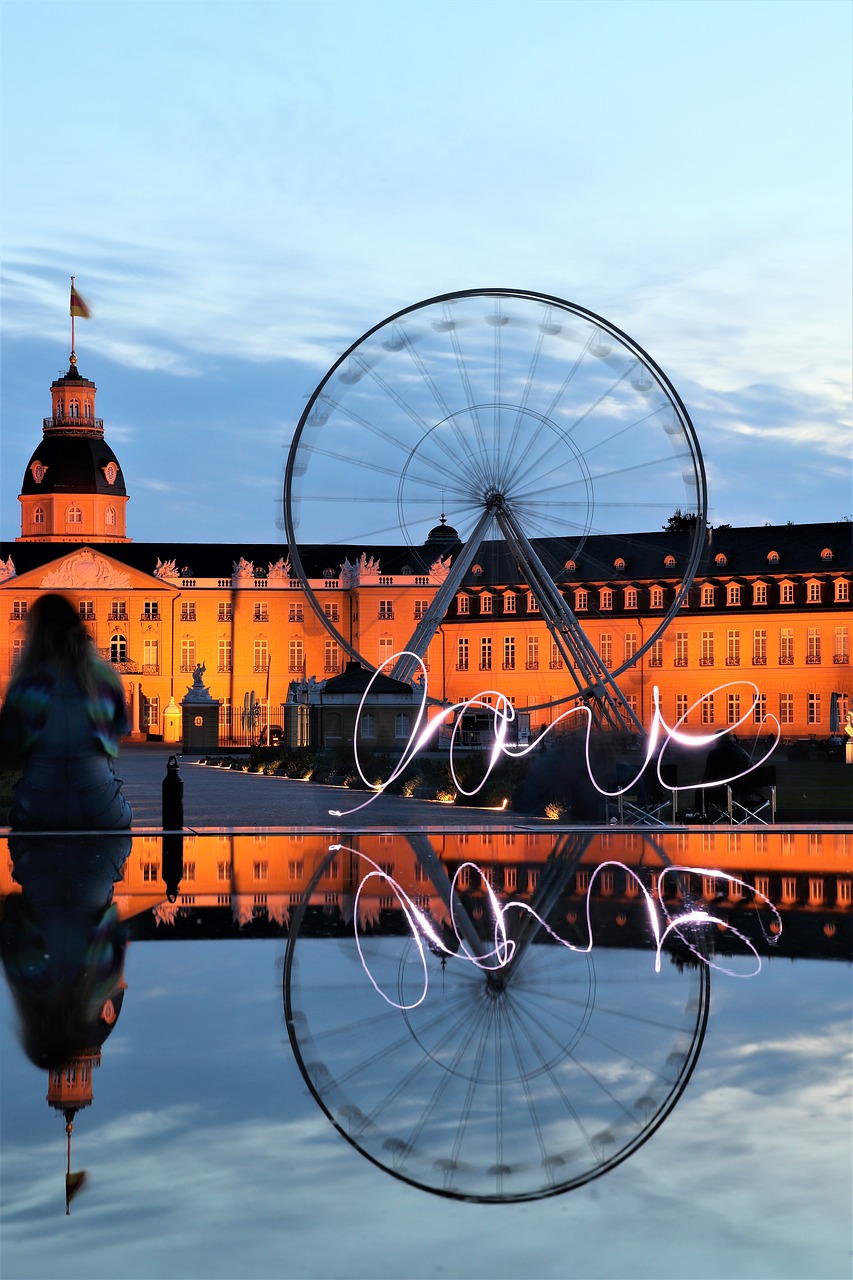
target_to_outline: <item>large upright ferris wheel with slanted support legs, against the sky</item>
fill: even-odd
[[[680,585],[631,662],[683,603],[702,552],[695,433],[666,375],[626,334],[516,289],[443,294],[364,334],[309,399],[284,481],[293,571],[352,657],[364,660],[325,618],[300,544],[402,543],[423,562],[441,513],[459,541],[405,648],[425,654],[480,547],[503,541],[574,676],[573,696],[617,726],[637,722],[566,600],[566,570],[589,535],[620,534],[629,545],[676,508],[698,517]],[[392,675],[416,669],[403,658]]]

